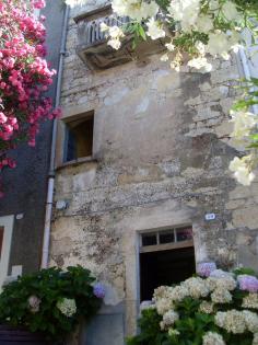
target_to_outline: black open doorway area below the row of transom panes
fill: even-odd
[[[195,273],[194,246],[140,253],[141,301],[151,300],[159,286],[178,284]]]

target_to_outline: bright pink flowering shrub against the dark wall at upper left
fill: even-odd
[[[33,15],[44,5],[44,0],[0,1],[0,172],[15,166],[8,151],[24,141],[35,146],[39,123],[59,113],[44,96],[56,73],[45,60],[44,16]]]

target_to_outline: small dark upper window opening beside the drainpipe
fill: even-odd
[[[92,156],[93,127],[93,114],[67,123],[66,162]]]

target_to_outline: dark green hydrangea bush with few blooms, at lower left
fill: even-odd
[[[0,323],[40,332],[60,341],[101,308],[104,287],[81,267],[42,269],[3,287]]]

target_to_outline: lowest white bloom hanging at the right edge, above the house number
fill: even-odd
[[[234,172],[235,179],[244,186],[249,186],[255,180],[255,174],[248,168],[248,161],[250,161],[250,156],[245,156],[243,158],[235,157],[230,163],[230,170]]]

